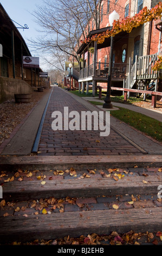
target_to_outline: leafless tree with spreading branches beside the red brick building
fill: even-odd
[[[100,27],[100,8],[102,0],[44,0],[43,6],[37,6],[36,23],[40,25],[42,36],[32,40],[35,50],[43,51],[52,58],[45,59],[63,71],[62,59],[69,56],[73,62],[79,62],[77,49],[81,35],[89,33],[90,20]],[[87,28],[87,29],[85,29]],[[58,65],[59,64],[59,65]]]

